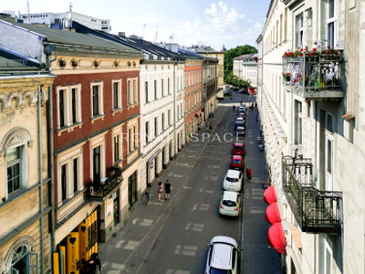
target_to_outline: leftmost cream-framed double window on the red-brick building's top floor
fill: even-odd
[[[57,129],[81,122],[81,85],[57,87]]]

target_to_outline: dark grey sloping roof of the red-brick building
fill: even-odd
[[[64,46],[83,46],[92,48],[99,47],[104,49],[109,48],[118,50],[119,52],[123,52],[125,54],[141,55],[140,50],[136,50],[135,48],[127,47],[125,45],[121,45],[120,43],[115,43],[110,40],[101,39],[99,37],[94,37],[87,34],[77,33],[68,30],[50,28],[47,26],[34,26],[18,23],[14,20],[14,18],[2,17],[0,22],[2,20],[12,24],[13,26],[21,27],[26,30],[35,32],[36,34],[43,36],[45,42],[48,42],[50,44]]]

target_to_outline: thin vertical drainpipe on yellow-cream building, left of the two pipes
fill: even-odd
[[[42,86],[38,87],[38,169],[39,169],[39,213],[40,213],[40,272],[44,273],[44,236],[43,236],[43,175],[42,175],[42,121],[41,121],[41,93]]]

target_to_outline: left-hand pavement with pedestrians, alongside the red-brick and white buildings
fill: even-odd
[[[216,109],[213,118],[208,122],[213,124],[213,132],[224,112],[223,107]],[[198,132],[202,135],[205,126]],[[190,142],[185,145],[183,151],[178,154],[176,160],[158,178],[162,184],[167,179],[172,184],[172,194],[168,201],[158,201],[157,184],[152,187],[152,198],[149,206],[142,199],[134,206],[130,216],[121,229],[120,234],[112,237],[107,244],[99,244],[99,258],[102,273],[138,273],[143,260],[149,254],[154,242],[159,237],[166,219],[171,213],[172,204],[183,190],[183,182],[189,179],[200,155],[208,142]],[[182,168],[183,167],[183,168]]]

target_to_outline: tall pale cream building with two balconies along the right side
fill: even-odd
[[[257,100],[287,273],[363,273],[365,188],[357,1],[270,3]],[[271,243],[272,244],[272,243]]]

